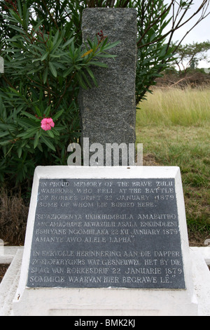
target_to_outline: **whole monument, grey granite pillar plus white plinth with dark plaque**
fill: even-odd
[[[90,143],[134,143],[135,22],[133,8],[84,11],[84,38],[120,40],[81,93]],[[190,316],[197,297],[178,167],[36,168],[14,315]]]

